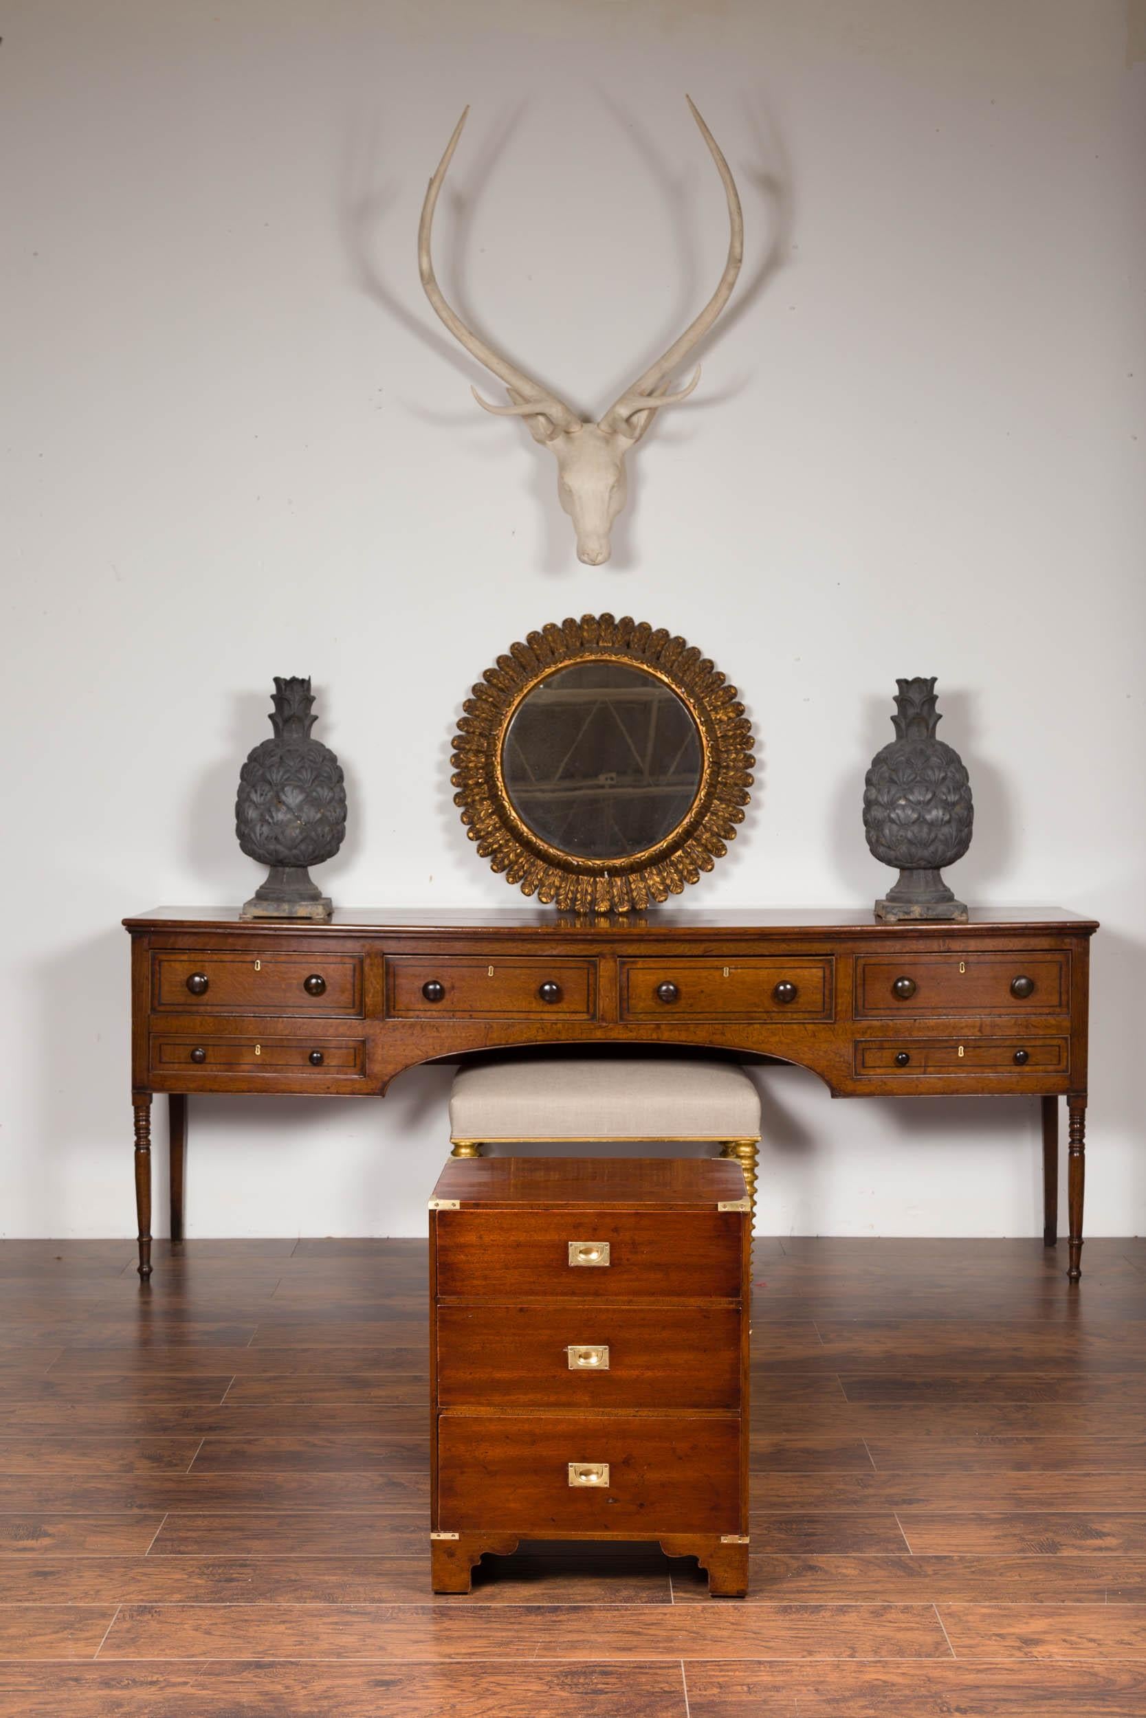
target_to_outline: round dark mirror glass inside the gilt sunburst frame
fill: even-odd
[[[576,859],[631,859],[686,819],[701,735],[677,694],[643,668],[582,661],[526,692],[502,747],[514,811]]]

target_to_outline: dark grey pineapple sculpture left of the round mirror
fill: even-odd
[[[308,866],[333,859],[345,835],[338,759],[311,739],[316,716],[308,679],[275,675],[275,737],[249,754],[239,777],[235,835],[244,854],[270,866],[242,905],[242,919],[328,919],[330,897]]]

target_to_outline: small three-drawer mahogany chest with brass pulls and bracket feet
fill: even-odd
[[[431,1581],[658,1539],[747,1587],[751,1216],[711,1158],[459,1158],[430,1201]]]

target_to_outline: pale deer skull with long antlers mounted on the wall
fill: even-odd
[[[421,223],[418,227],[418,271],[421,275],[421,283],[426,289],[426,297],[433,304],[435,311],[450,330],[455,340],[471,352],[478,362],[485,364],[486,369],[493,371],[500,381],[505,383],[509,393],[509,405],[491,405],[490,400],[483,400],[476,388],[472,395],[485,411],[493,412],[498,417],[524,417],[529,433],[534,442],[543,442],[557,457],[557,493],[565,512],[574,522],[574,531],[577,533],[577,558],[588,567],[600,567],[610,557],[610,529],[613,519],[625,505],[625,454],[631,447],[641,440],[653,417],[663,405],[675,405],[679,400],[689,397],[692,388],[701,378],[699,364],[692,373],[692,378],[684,388],[675,393],[668,392],[668,380],[674,369],[689,356],[694,345],[708,333],[722,309],[728,302],[732,287],[735,285],[735,277],[741,271],[741,261],[744,258],[744,216],[741,213],[741,199],[737,196],[735,182],[728,172],[728,163],[725,161],[716,139],[710,132],[708,125],[692,105],[692,98],[686,96],[692,119],[699,125],[701,137],[710,148],[711,158],[716,163],[716,172],[720,174],[722,184],[725,187],[725,198],[728,199],[728,259],[720,277],[720,283],[713,292],[711,299],[696,318],[689,323],[679,340],[668,347],[655,364],[637,376],[632,387],[625,388],[620,399],[613,400],[605,416],[598,423],[584,423],[564,400],[558,400],[555,393],[543,388],[539,381],[527,376],[524,369],[517,369],[509,359],[495,352],[493,347],[467,328],[466,323],[457,316],[454,309],[447,304],[442,295],[442,289],[433,273],[433,261],[430,258],[430,232],[433,227],[433,211],[438,203],[438,192],[445,180],[450,160],[454,158],[454,149],[457,148],[457,139],[462,134],[462,125],[466,124],[466,115],[469,108],[462,113],[457,125],[454,127],[454,136],[450,137],[445,155],[438,161],[438,170],[430,180],[426,191],[426,201],[423,203]]]

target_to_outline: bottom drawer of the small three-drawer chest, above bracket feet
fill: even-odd
[[[570,1465],[607,1467],[608,1481],[570,1483]],[[440,1526],[464,1532],[491,1515],[529,1538],[739,1532],[739,1416],[440,1414]]]

